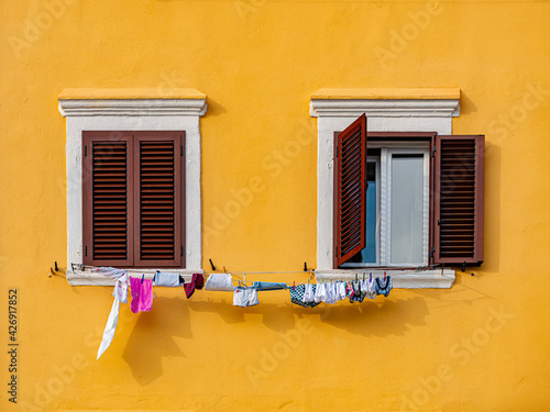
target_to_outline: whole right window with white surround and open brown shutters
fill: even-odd
[[[483,136],[452,135],[460,94],[457,88],[321,89],[311,94],[318,130],[318,279],[369,267],[373,275],[399,272],[396,288],[450,288],[451,265],[483,260]],[[353,174],[361,165],[363,181],[345,193],[352,198],[341,199],[348,204],[339,216],[336,135],[351,137],[346,130],[363,113],[369,133],[359,154],[351,145],[348,169]],[[345,256],[337,247],[342,235]],[[409,270],[438,263],[444,268]]]

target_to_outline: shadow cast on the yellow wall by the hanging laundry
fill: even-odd
[[[219,315],[228,324],[245,322],[245,314],[262,316],[262,323],[277,333],[286,333],[297,327],[297,320],[309,319],[364,337],[404,335],[413,326],[425,325],[428,314],[426,300],[386,299],[363,303],[341,302],[336,305],[321,303],[317,308],[301,308],[288,301],[288,292],[280,293],[285,303],[260,303],[256,307],[232,305],[232,294],[223,293],[222,299],[186,300],[183,298],[157,297],[151,312],[142,312],[130,333],[122,358],[130,366],[132,376],[142,386],[155,381],[163,375],[165,356],[187,357],[174,337],[193,338],[190,311]],[[260,301],[262,301],[262,294]],[[227,296],[227,298],[224,297]],[[229,298],[231,296],[231,298]],[[177,316],[167,314],[177,313]],[[387,320],[392,319],[392,322]],[[254,323],[253,327],[261,327]],[[260,331],[262,332],[262,331]],[[330,333],[330,332],[329,332]],[[268,336],[268,334],[266,334]],[[146,359],[146,361],[144,361]]]

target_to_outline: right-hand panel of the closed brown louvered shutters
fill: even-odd
[[[140,132],[134,141],[135,266],[183,266],[183,132]]]

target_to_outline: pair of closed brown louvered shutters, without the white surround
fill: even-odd
[[[82,132],[84,263],[185,266],[185,132]]]

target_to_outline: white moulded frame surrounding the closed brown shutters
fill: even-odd
[[[202,272],[199,118],[207,110],[206,94],[195,89],[165,91],[160,96],[156,89],[65,89],[58,97],[67,122],[66,274],[73,286],[112,285],[102,275],[72,270],[72,264],[82,263],[82,131],[185,131],[186,267],[170,271]]]

